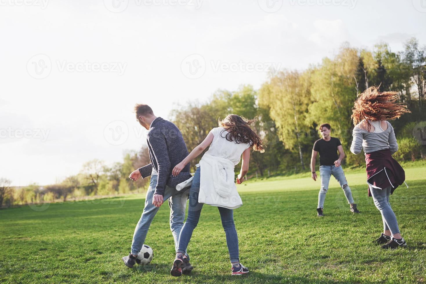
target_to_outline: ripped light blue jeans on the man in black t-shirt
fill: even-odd
[[[343,192],[345,192],[348,203],[354,203],[351,188],[348,186],[348,182],[346,181],[342,166],[320,166],[321,189],[320,193],[318,193],[317,208],[324,208],[325,194],[328,190],[328,183],[330,182],[331,175],[334,175],[334,178],[336,178],[336,180],[339,182],[340,187],[343,189]]]

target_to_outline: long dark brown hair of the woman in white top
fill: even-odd
[[[261,153],[265,152],[265,148],[262,145],[262,139],[250,128],[250,124],[255,122],[257,119],[246,119],[239,115],[228,115],[223,120],[218,120],[219,127],[225,128],[223,131],[227,131],[225,138],[227,141],[235,141],[235,143],[250,143],[253,145],[254,151]],[[221,132],[222,135],[222,132]]]

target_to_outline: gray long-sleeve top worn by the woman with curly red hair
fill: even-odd
[[[364,148],[364,153],[371,153],[378,150],[390,149],[391,154],[398,150],[398,143],[395,138],[394,128],[389,121],[386,121],[388,128],[383,132],[368,132],[360,127],[358,123],[352,132],[353,140],[351,152],[355,155]]]

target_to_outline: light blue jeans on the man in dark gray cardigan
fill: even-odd
[[[133,233],[133,255],[137,255],[141,251],[150,224],[159,209],[153,205],[153,195],[155,186],[157,185],[157,178],[157,175],[151,175],[150,187],[148,188],[147,196],[145,197],[144,212],[142,213],[142,216],[136,225],[135,232]],[[173,238],[175,240],[175,250],[178,249],[179,234],[184,224],[188,195],[189,189],[177,191],[176,189],[166,186],[166,190],[164,191],[163,199],[166,200],[169,198],[170,230],[172,231]]]

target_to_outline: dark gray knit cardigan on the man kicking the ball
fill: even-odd
[[[151,164],[139,168],[142,178],[151,175],[152,169],[158,173],[158,182],[154,194],[164,195],[166,185],[176,186],[191,178],[188,163],[177,177],[173,177],[172,169],[188,155],[188,149],[181,132],[170,121],[155,118],[147,137]]]

